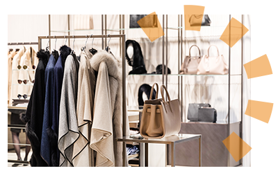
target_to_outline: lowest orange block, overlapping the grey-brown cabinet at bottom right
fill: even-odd
[[[236,162],[243,158],[252,149],[252,147],[245,143],[245,141],[235,132],[231,133],[231,135],[224,139],[222,143],[227,147]]]

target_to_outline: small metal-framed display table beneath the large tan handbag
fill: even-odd
[[[202,135],[201,134],[177,134],[174,136],[168,136],[165,138],[142,138],[140,134],[133,135],[133,136],[124,136],[122,138],[116,138],[117,142],[132,142],[132,143],[139,143],[140,144],[140,166],[145,165],[148,166],[148,143],[157,143],[157,144],[168,144],[171,145],[171,166],[175,166],[175,148],[176,144],[178,143],[185,143],[190,140],[199,139],[199,167],[202,166]],[[143,144],[145,143],[145,152],[142,149]],[[167,157],[167,154],[166,154]],[[142,164],[142,159],[145,158],[145,164]],[[124,158],[123,158],[124,159]],[[124,161],[123,161],[124,163]]]

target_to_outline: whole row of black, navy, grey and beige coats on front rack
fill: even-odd
[[[31,143],[35,159],[41,162],[32,166],[122,166],[122,145],[114,146],[115,138],[124,135],[121,60],[111,51],[100,50],[92,55],[83,48],[79,65],[71,53],[71,48],[62,46],[57,62],[54,55],[44,53],[49,56],[47,64],[43,64],[45,75],[35,73],[32,102],[27,110],[31,113],[24,117],[35,127],[40,125],[38,131],[33,129],[33,134],[40,133],[39,141],[33,139]],[[40,114],[35,115],[32,103],[38,97],[38,85],[44,86],[41,89],[45,96],[40,102]]]

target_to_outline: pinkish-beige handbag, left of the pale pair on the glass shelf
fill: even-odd
[[[193,46],[196,46],[196,45],[193,45]],[[191,46],[189,48],[189,56],[186,56],[184,58],[183,64],[181,65],[181,70],[179,71],[179,74],[192,74],[192,75],[197,74],[197,68],[198,68],[199,62],[201,60],[201,51],[199,50],[199,47],[196,46],[198,48],[199,55],[191,57],[190,50],[193,46]]]

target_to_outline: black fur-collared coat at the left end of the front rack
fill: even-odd
[[[28,136],[33,154],[31,156],[32,167],[47,166],[47,163],[40,156],[40,141],[42,140],[42,120],[44,115],[45,84],[44,71],[49,60],[50,53],[40,50],[37,53],[39,58],[38,67],[35,71],[35,83],[28,103],[26,114],[21,116],[26,122],[26,135]]]

